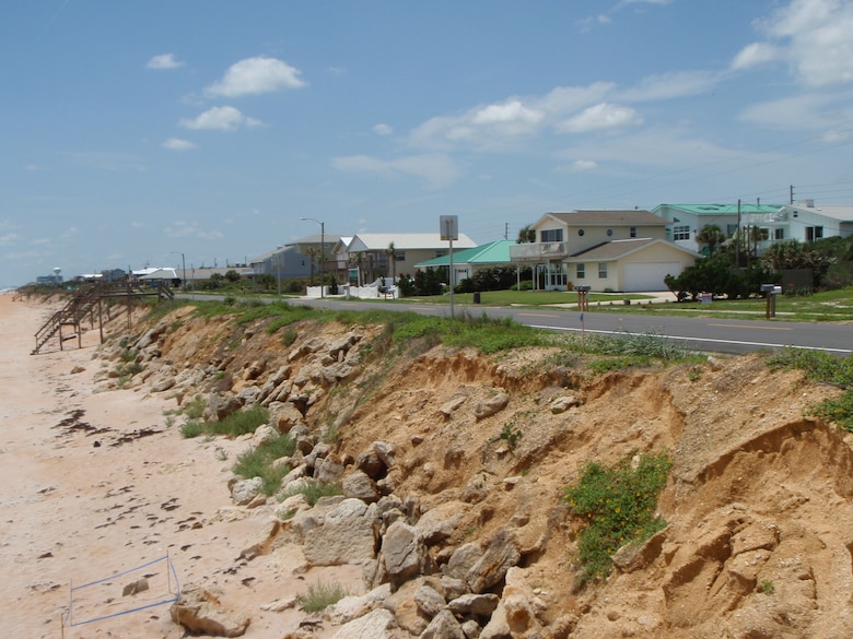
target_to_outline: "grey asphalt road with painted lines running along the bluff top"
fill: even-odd
[[[185,297],[185,296],[180,296]],[[210,297],[206,296],[206,299]],[[338,298],[300,298],[304,306],[331,309],[375,309],[376,301]],[[423,315],[451,317],[446,305],[388,304],[388,310],[410,310]],[[576,309],[507,308],[478,305],[455,305],[454,316],[464,313],[492,318],[510,317],[529,327],[589,334],[654,333],[681,343],[686,348],[714,353],[743,354],[755,351],[781,350],[786,346],[826,351],[840,356],[853,354],[853,324],[826,322],[787,322],[776,320],[733,320],[696,317],[644,317],[639,313],[584,312]],[[853,313],[851,313],[853,319]]]

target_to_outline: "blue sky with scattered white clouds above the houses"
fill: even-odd
[[[853,0],[9,0],[0,284],[853,202]]]

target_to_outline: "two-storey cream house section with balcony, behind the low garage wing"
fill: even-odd
[[[631,289],[639,291],[663,291],[666,288],[663,279],[667,274],[678,275],[671,270],[678,264],[683,263],[680,258],[676,259],[670,251],[664,250],[667,246],[666,237],[667,221],[643,210],[583,210],[569,213],[546,213],[535,224],[530,226],[535,233],[536,241],[529,244],[516,244],[510,247],[510,259],[513,262],[530,265],[534,269],[534,288],[545,291],[568,291],[572,285],[577,284],[575,280],[579,274],[584,281],[589,281],[591,286],[596,291],[610,288],[612,291],[628,291],[623,286],[630,285]],[[617,245],[619,249],[611,251],[626,250],[623,257],[617,252],[608,252],[603,249],[598,253],[592,253],[582,260],[574,259],[594,248],[603,247],[618,240],[647,239],[661,240],[664,244],[652,242],[641,252],[641,257],[651,260],[650,267],[643,270],[643,277],[636,282],[643,282],[642,288],[636,288],[636,282],[626,283],[624,279],[619,280],[619,287],[614,288],[610,273],[619,272],[622,268],[620,260],[628,259],[632,265],[636,267],[636,256],[632,259],[633,251],[628,251],[629,245]],[[633,248],[640,248],[639,244],[630,245]],[[685,255],[691,256],[689,263],[693,263],[698,257],[693,251],[683,250]],[[659,256],[656,253],[661,253]],[[593,262],[598,255],[601,264],[598,261]],[[614,260],[617,260],[616,263]],[[589,277],[587,274],[587,264],[594,264],[596,273],[600,268],[603,277]],[[592,267],[591,267],[592,268]],[[580,269],[580,271],[579,271]],[[645,284],[656,285],[650,287]]]

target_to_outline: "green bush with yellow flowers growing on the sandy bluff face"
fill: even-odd
[[[587,463],[577,484],[565,488],[565,499],[584,518],[579,534],[583,582],[610,573],[610,557],[626,544],[640,544],[666,526],[655,518],[657,496],[673,465],[669,454],[643,454],[632,463],[628,454],[614,466]]]

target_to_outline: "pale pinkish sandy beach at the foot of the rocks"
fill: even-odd
[[[246,442],[183,439],[167,416],[175,400],[104,390],[94,380],[106,366],[95,357],[97,330],[84,334],[82,348],[70,341],[63,352],[31,355],[51,310],[0,295],[0,592],[8,636],[182,637],[170,604],[156,605],[174,597],[176,580],[220,589],[226,607],[252,618],[246,637],[294,629],[297,611],[260,606],[304,591],[308,577],[293,573],[287,554],[239,559],[270,517],[269,509],[232,512],[238,509],[226,482]],[[355,581],[358,573],[351,567],[348,576]],[[143,576],[148,591],[122,595]],[[100,583],[80,588],[90,582]]]

